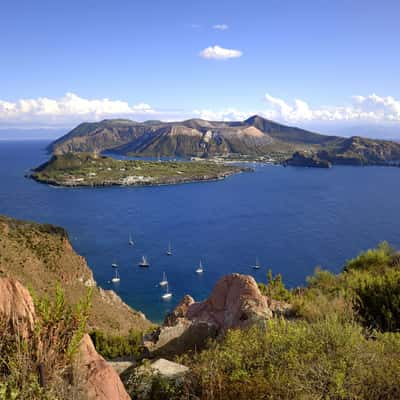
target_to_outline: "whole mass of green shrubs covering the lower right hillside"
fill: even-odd
[[[259,287],[293,305],[290,319],[230,331],[180,357],[191,368],[180,398],[400,398],[399,260],[384,242],[349,260],[342,273],[317,269],[305,288],[293,290],[269,271]]]

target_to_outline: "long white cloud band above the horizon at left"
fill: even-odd
[[[0,123],[19,124],[71,124],[74,121],[103,118],[148,117],[157,112],[146,103],[129,105],[126,101],[85,99],[74,93],[66,93],[58,99],[39,97],[15,102],[0,100]]]

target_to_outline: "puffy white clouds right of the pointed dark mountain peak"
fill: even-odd
[[[304,100],[295,99],[292,104],[270,94],[265,95],[269,108],[264,115],[283,121],[356,121],[400,122],[400,100],[376,94],[354,96],[349,105],[320,106],[312,108]]]

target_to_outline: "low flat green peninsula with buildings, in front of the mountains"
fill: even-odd
[[[208,161],[118,160],[97,153],[54,155],[32,179],[56,186],[145,186],[224,179],[250,168]]]

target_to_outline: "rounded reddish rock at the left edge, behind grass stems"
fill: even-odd
[[[22,336],[33,329],[35,306],[32,297],[15,279],[0,278],[0,319]]]

